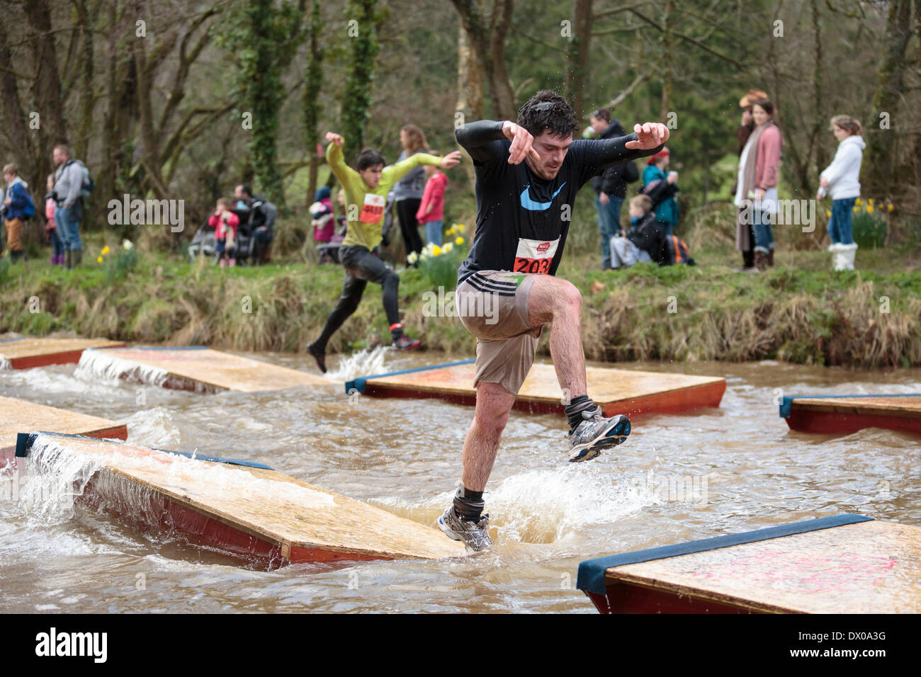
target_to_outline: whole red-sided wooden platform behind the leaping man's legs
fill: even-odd
[[[355,389],[379,397],[436,397],[453,403],[475,404],[474,360],[451,362],[390,374],[350,380]],[[631,369],[586,368],[589,396],[613,414],[668,414],[697,407],[715,407],[726,391],[726,379],[709,376],[660,374]],[[562,411],[562,391],[553,365],[536,364],[521,386],[515,408],[533,413]]]

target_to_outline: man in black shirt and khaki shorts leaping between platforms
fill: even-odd
[[[550,354],[568,395],[569,461],[595,458],[630,434],[626,416],[605,418],[589,398],[582,295],[554,275],[579,188],[614,163],[657,153],[669,130],[644,123],[634,134],[574,141],[576,127],[565,99],[543,90],[521,107],[518,123],[483,120],[455,133],[476,173],[476,232],[456,295],[461,321],[476,336],[476,411],[464,439],[462,485],[437,525],[469,550],[492,545],[483,492],[544,324],[551,324]]]

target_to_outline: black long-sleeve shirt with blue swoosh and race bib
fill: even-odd
[[[636,134],[579,139],[569,146],[556,177],[545,181],[525,160],[508,164],[511,141],[502,134],[502,122],[465,124],[455,137],[473,158],[476,174],[476,231],[458,271],[458,284],[480,270],[556,274],[579,188],[617,162],[644,158],[662,148],[626,148]]]

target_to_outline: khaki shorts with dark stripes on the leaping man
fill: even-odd
[[[536,275],[478,271],[458,286],[455,304],[461,322],[476,336],[476,376],[498,383],[513,395],[528,377],[542,327],[528,321],[528,295]]]

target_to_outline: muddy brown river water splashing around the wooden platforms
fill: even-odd
[[[312,370],[305,356],[249,356]],[[452,359],[379,349],[333,358],[329,376]],[[86,464],[64,458],[66,467],[40,475],[30,462],[15,492],[0,483],[0,612],[595,613],[575,589],[590,557],[843,512],[921,524],[921,439],[793,433],[775,403],[781,394],[917,392],[919,369],[600,366],[725,376],[729,387],[718,409],[638,418],[623,446],[580,464],[565,462],[562,415],[513,412],[485,496],[495,547],[459,560],[252,571],[74,507],[67,499],[92,473]],[[0,372],[0,395],[124,421],[129,442],[260,461],[434,522],[460,477],[472,408],[320,390],[168,391],[74,365]],[[253,481],[228,490],[267,489]]]

